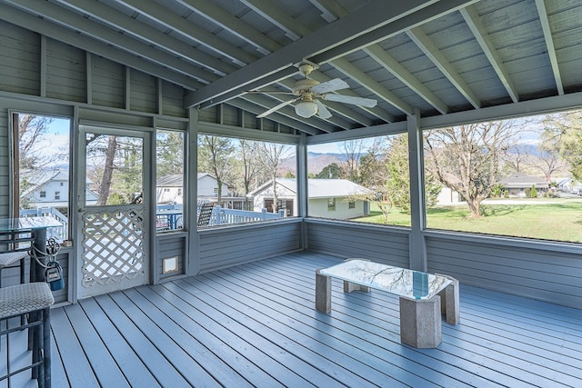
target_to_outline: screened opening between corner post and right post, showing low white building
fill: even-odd
[[[307,146],[308,214],[410,226],[406,134]]]

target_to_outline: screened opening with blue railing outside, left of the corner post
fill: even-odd
[[[200,134],[197,187],[199,227],[296,216],[296,147]]]

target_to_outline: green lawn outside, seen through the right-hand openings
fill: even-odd
[[[467,205],[430,208],[426,225],[430,229],[582,243],[582,200],[539,198],[513,202],[482,204],[483,215],[478,219],[469,217]],[[383,224],[383,217],[372,204],[369,217],[354,221]],[[410,216],[393,210],[388,215],[388,224],[410,226]]]

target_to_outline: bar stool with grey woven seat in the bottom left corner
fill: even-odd
[[[50,306],[55,303],[53,293],[45,282],[25,283],[0,288],[0,340],[6,337],[6,373],[0,376],[0,382],[10,380],[15,374],[31,370],[31,378],[38,381],[39,388],[51,386],[51,329]],[[28,315],[27,323],[22,323],[23,316]],[[11,327],[11,323],[15,323]],[[30,365],[11,370],[10,333],[27,328],[33,333],[32,361]],[[13,346],[12,349],[15,349]],[[23,346],[23,352],[25,346]],[[20,357],[17,354],[15,358]]]

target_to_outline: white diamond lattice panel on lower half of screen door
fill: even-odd
[[[83,215],[84,287],[144,277],[143,209]]]

